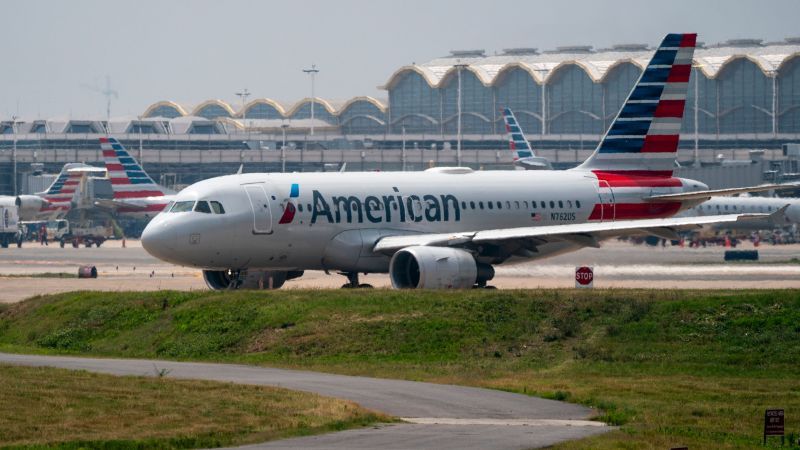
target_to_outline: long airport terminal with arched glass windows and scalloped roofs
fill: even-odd
[[[275,150],[284,142],[291,149],[450,149],[460,85],[464,149],[503,148],[500,110],[508,106],[536,148],[556,152],[556,159],[574,150],[578,158],[602,137],[652,53],[646,44],[452,51],[399,67],[382,84],[383,99],[314,99],[313,121],[311,98],[244,105],[166,99],[132,118],[23,118],[16,126],[6,120],[0,150],[12,141],[42,155],[94,149],[107,133],[132,148],[163,150]],[[700,43],[693,65],[681,149],[710,156],[800,142],[800,37]]]

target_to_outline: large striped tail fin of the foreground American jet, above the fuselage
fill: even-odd
[[[671,177],[697,34],[668,34],[578,170]]]

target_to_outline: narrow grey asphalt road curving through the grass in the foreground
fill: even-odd
[[[0,363],[61,367],[113,375],[155,376],[277,386],[352,400],[404,418],[321,436],[251,445],[248,449],[526,449],[610,430],[569,403],[464,386],[353,377],[230,364],[96,359],[0,353]]]

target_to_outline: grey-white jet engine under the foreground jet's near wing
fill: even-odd
[[[414,246],[399,250],[389,263],[396,289],[467,289],[494,277],[494,269],[457,248]]]

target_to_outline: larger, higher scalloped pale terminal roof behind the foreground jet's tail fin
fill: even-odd
[[[615,45],[610,49],[592,50],[590,46],[558,47],[539,53],[536,49],[509,49],[499,55],[483,56],[482,52],[452,52],[423,64],[411,64],[397,69],[382,86],[391,89],[407,72],[416,72],[432,88],[448,83],[458,71],[458,65],[474,73],[485,86],[494,85],[503,72],[520,68],[539,84],[547,83],[567,65],[581,67],[594,82],[602,82],[612,69],[623,63],[644,68],[654,50],[644,44]],[[800,38],[763,44],[759,39],[733,39],[722,44],[700,47],[695,51],[694,64],[708,78],[716,78],[725,66],[737,59],[754,62],[766,76],[775,76],[789,60],[800,56]]]

